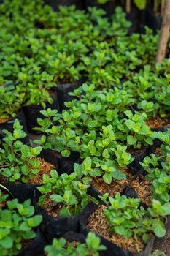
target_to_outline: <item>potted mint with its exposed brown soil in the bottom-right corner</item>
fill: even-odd
[[[107,244],[108,255],[113,253],[121,255],[123,250],[126,253],[130,251],[132,255],[145,249],[150,252],[153,236],[165,235],[163,222],[169,214],[169,203],[161,205],[159,201],[153,200],[152,206],[144,209],[140,206],[139,199],[127,198],[120,193],[109,198],[108,194],[105,194],[101,200],[105,204],[91,206],[89,215],[82,214],[80,223],[82,233],[87,233],[89,229],[101,236],[101,243]],[[99,224],[101,219],[103,225]],[[145,247],[144,244],[148,242],[148,246]]]

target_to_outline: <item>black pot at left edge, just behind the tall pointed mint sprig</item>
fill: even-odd
[[[23,131],[26,132],[26,134],[28,133],[28,130],[26,127],[26,118],[24,116],[23,110],[20,110],[20,112],[17,114],[17,116],[15,116],[15,118],[12,118],[11,120],[0,124],[0,140],[2,140],[5,137],[4,132],[2,132],[3,129],[7,129],[9,132],[13,132],[13,125],[14,125],[14,122],[16,119],[18,119],[18,121],[20,122],[20,125],[23,126]],[[29,144],[28,136],[20,139],[20,141],[22,141],[25,144]]]

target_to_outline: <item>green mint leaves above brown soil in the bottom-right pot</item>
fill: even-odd
[[[161,206],[158,200],[152,200],[152,206],[145,210],[140,206],[140,200],[127,198],[125,195],[117,193],[115,198],[105,194],[101,197],[107,203],[104,214],[110,225],[110,232],[119,234],[125,239],[142,238],[144,243],[150,239],[150,233],[163,237],[166,229],[163,218],[170,213],[170,203]]]

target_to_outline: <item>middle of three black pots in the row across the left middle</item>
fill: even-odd
[[[53,94],[50,94],[50,97],[53,99],[53,103],[50,104],[49,102],[45,102],[46,108],[56,109],[58,110],[58,98],[56,92],[53,92]],[[45,118],[42,116],[42,114],[39,112],[40,110],[43,110],[42,105],[30,105],[23,107],[23,111],[26,116],[26,124],[28,127],[29,132],[33,132],[34,134],[41,134],[39,131],[32,130],[34,127],[39,127],[39,124],[37,123],[37,118]]]

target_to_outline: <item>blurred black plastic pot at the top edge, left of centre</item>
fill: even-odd
[[[83,1],[81,0],[44,0],[45,4],[49,4],[55,11],[58,11],[60,5],[75,5],[77,8],[82,9]]]

